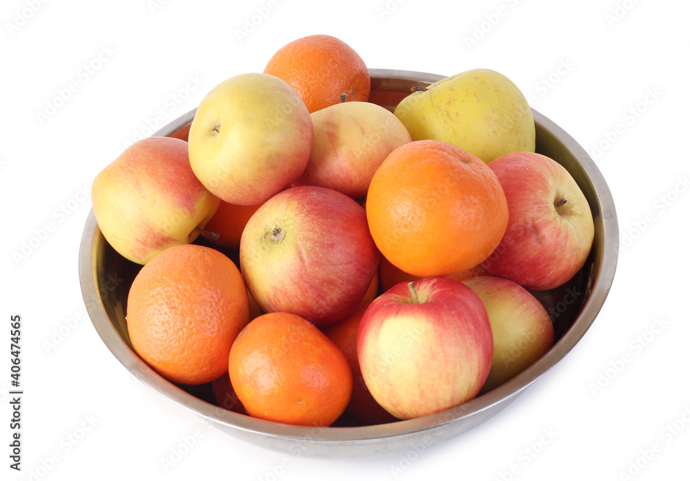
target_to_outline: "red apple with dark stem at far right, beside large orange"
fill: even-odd
[[[552,158],[513,152],[489,163],[508,202],[508,227],[482,265],[525,289],[563,285],[584,265],[594,241],[591,208],[573,176]]]

